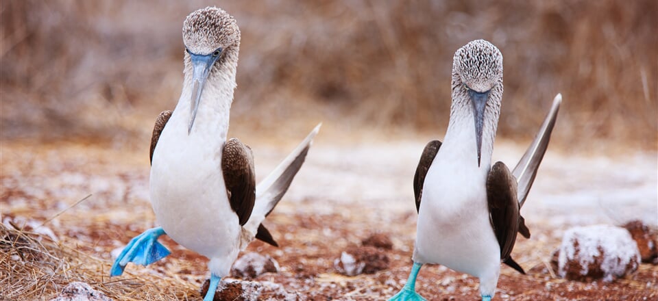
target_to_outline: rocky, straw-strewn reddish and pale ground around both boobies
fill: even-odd
[[[278,272],[251,282],[233,277],[226,283],[227,291],[237,293],[232,298],[248,291],[253,300],[385,300],[397,292],[411,268],[416,222],[411,179],[425,141],[336,144],[319,137],[289,193],[265,222],[280,248],[254,241],[245,251],[271,257]],[[520,146],[497,144],[494,159],[513,166],[522,155]],[[262,179],[294,142],[251,145],[257,179]],[[571,226],[629,220],[655,226],[656,154],[610,156],[549,150],[522,209],[532,237],[520,237],[513,251],[527,274],[502,267],[497,300],[656,300],[657,265],[642,263],[637,272],[604,282],[559,278],[551,263]],[[65,274],[66,281],[73,281],[81,270],[93,270],[80,280],[112,300],[200,300],[199,289],[209,276],[207,260],[171,239],[161,239],[173,251],[166,259],[148,267],[129,265],[118,278],[107,276],[112,251],[155,225],[148,201],[149,163],[141,147],[3,142],[1,160],[5,225],[27,224],[53,237],[58,244],[52,246],[69,250],[60,261],[71,265],[53,269],[41,282],[26,281],[21,285],[32,287],[22,291],[16,290],[21,285],[0,280],[0,300],[50,300],[64,283],[48,279]],[[2,250],[9,252],[6,246]],[[8,260],[26,260],[19,257]],[[350,265],[350,257],[363,261],[363,269]],[[0,276],[18,277],[7,274],[8,266],[0,265]],[[479,298],[476,278],[441,265],[423,267],[417,291],[428,300]],[[240,298],[235,300],[249,300]]]

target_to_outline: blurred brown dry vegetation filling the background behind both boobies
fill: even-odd
[[[1,1],[1,138],[147,141],[180,95],[182,21],[206,5]],[[232,110],[241,126],[324,121],[440,138],[452,55],[484,38],[504,55],[499,135],[530,139],[561,92],[557,143],[657,147],[655,0],[210,5],[241,27]]]

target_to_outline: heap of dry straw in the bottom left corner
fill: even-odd
[[[0,224],[0,300],[50,300],[75,281],[88,283],[112,300],[199,298],[198,287],[175,277],[126,271],[110,278],[110,262],[9,224]]]

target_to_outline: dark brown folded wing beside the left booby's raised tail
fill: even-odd
[[[252,215],[256,200],[256,172],[252,149],[240,140],[231,138],[224,144],[221,155],[221,172],[231,203],[244,226]]]

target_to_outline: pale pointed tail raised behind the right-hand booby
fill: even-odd
[[[555,99],[553,99],[553,105],[550,108],[550,112],[546,115],[544,123],[541,125],[535,140],[533,140],[533,143],[528,147],[528,150],[526,150],[526,153],[512,171],[512,174],[518,183],[517,196],[521,207],[523,207],[523,203],[526,202],[526,197],[528,196],[528,192],[530,192],[530,187],[532,187],[533,181],[535,181],[539,163],[541,163],[541,159],[544,159],[544,153],[546,153],[548,141],[550,140],[550,133],[553,130],[553,126],[555,126],[555,119],[557,118],[557,112],[559,111],[561,103],[562,94],[558,93],[555,96]]]

